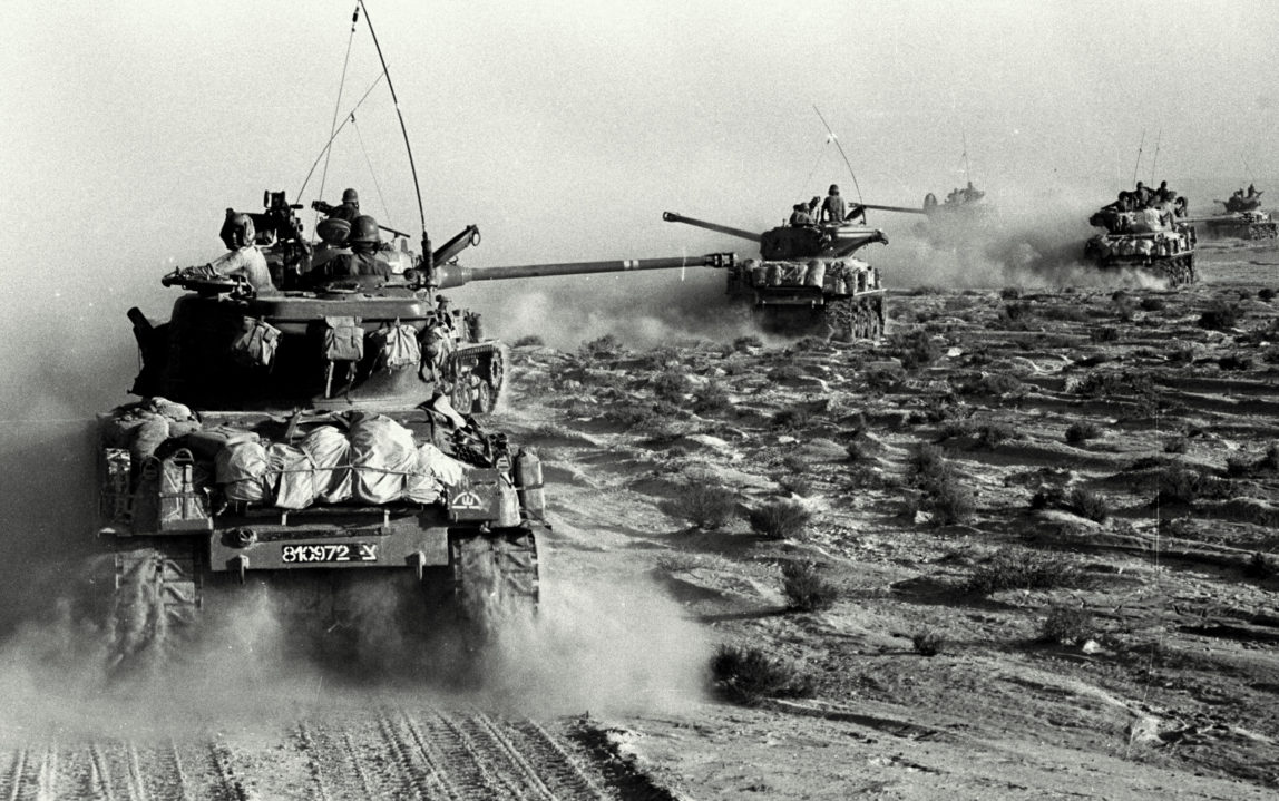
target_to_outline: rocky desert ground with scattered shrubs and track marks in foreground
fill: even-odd
[[[23,677],[0,797],[1273,797],[1275,266],[899,290],[874,344],[514,343],[542,631],[462,691],[210,678],[173,719]]]

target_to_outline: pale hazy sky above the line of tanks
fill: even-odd
[[[159,275],[217,255],[225,207],[298,192],[329,134],[353,8],[3,0],[0,243],[36,255],[0,267],[5,297],[31,301],[5,330],[32,344],[79,331],[67,347],[95,360],[130,352],[124,310],[164,316],[173,296]],[[665,224],[663,210],[762,228],[833,180],[856,194],[813,104],[872,202],[918,205],[962,184],[967,141],[972,178],[1003,205],[1054,193],[1100,205],[1131,180],[1143,133],[1143,178],[1157,139],[1159,178],[1174,187],[1224,197],[1251,179],[1247,161],[1279,197],[1279,14],[1266,4],[370,10],[428,229],[443,241],[478,224],[472,266],[700,253],[733,243]],[[361,22],[344,110],[377,74]],[[356,186],[366,210],[416,233],[385,86],[356,119],[324,196]],[[318,187],[317,174],[299,200]]]

